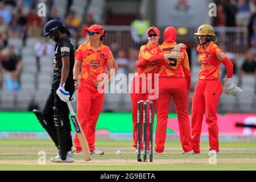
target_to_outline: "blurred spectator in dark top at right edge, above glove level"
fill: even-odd
[[[249,74],[249,75],[255,75],[256,76],[256,61],[255,61],[255,53],[253,49],[249,49],[246,52],[245,61],[242,64],[242,68],[240,71],[240,76]]]

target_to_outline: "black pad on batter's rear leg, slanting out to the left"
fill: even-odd
[[[58,146],[58,140],[57,140],[57,133],[55,129],[55,125],[53,122],[49,122],[46,119],[46,116],[44,113],[38,109],[34,109],[33,113],[36,115],[36,118],[38,118],[39,123],[43,126],[43,128],[47,131],[53,142],[55,143],[56,147]]]

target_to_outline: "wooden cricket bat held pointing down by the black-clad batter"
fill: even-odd
[[[77,138],[79,139],[79,142],[80,142],[80,145],[81,145],[81,148],[82,148],[82,152],[84,152],[84,159],[85,159],[85,161],[89,161],[90,160],[90,150],[89,150],[88,142],[87,142],[87,140],[85,138],[85,135],[84,135],[84,131],[82,131],[82,128],[79,124],[79,121],[76,117],[76,114],[73,110],[73,107],[72,107],[70,101],[67,101],[67,104],[68,104],[69,112],[71,114],[72,122],[75,126],[75,130],[76,130],[76,133],[77,133]]]

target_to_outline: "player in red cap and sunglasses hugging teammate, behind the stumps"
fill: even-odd
[[[133,117],[133,147],[137,148],[137,104],[141,100],[151,100],[153,101],[153,121],[155,114],[155,104],[156,104],[156,93],[155,93],[155,73],[158,73],[158,61],[168,58],[180,57],[181,54],[178,52],[166,53],[165,55],[158,55],[158,41],[160,38],[160,31],[156,27],[150,27],[147,30],[148,44],[143,45],[139,51],[139,60],[137,61],[137,71],[134,74],[132,87],[131,87],[131,102],[132,102],[132,117]],[[182,45],[177,45],[175,48],[182,47]],[[152,52],[154,49],[154,52]],[[143,63],[143,65],[140,65]],[[143,111],[143,109],[142,109]],[[141,122],[143,123],[143,122]],[[147,123],[149,123],[147,119]],[[147,125],[147,150],[149,150],[149,124]],[[141,131],[142,133],[142,131]],[[142,136],[141,136],[142,137]],[[141,144],[143,147],[143,144]]]

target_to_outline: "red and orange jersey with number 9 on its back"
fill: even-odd
[[[164,42],[159,46],[159,55],[170,53],[176,42]],[[180,49],[183,56],[180,59],[166,59],[159,62],[159,77],[185,77],[184,69],[189,72],[188,55],[185,49]]]

